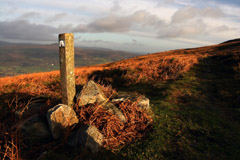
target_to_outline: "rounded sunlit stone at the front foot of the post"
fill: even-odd
[[[47,120],[54,139],[58,139],[66,129],[79,122],[75,111],[64,104],[58,104],[48,110]]]

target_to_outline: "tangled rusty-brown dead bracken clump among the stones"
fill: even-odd
[[[76,106],[80,122],[95,125],[105,137],[104,147],[111,150],[144,137],[153,123],[148,113],[138,108],[136,103],[127,100],[115,105],[123,112],[126,123],[100,105]]]

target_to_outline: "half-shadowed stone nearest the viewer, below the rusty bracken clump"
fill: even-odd
[[[68,140],[68,145],[87,147],[92,153],[98,153],[104,136],[93,125],[81,126]]]

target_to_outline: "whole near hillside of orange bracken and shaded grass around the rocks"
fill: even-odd
[[[150,98],[152,131],[114,153],[46,147],[46,159],[240,159],[240,41],[76,69],[78,86],[88,79]],[[46,109],[59,103],[59,81],[58,71],[0,78],[2,153],[14,111],[31,98]]]

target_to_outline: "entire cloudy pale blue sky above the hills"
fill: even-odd
[[[57,43],[138,53],[239,38],[239,0],[0,0],[0,40]]]

